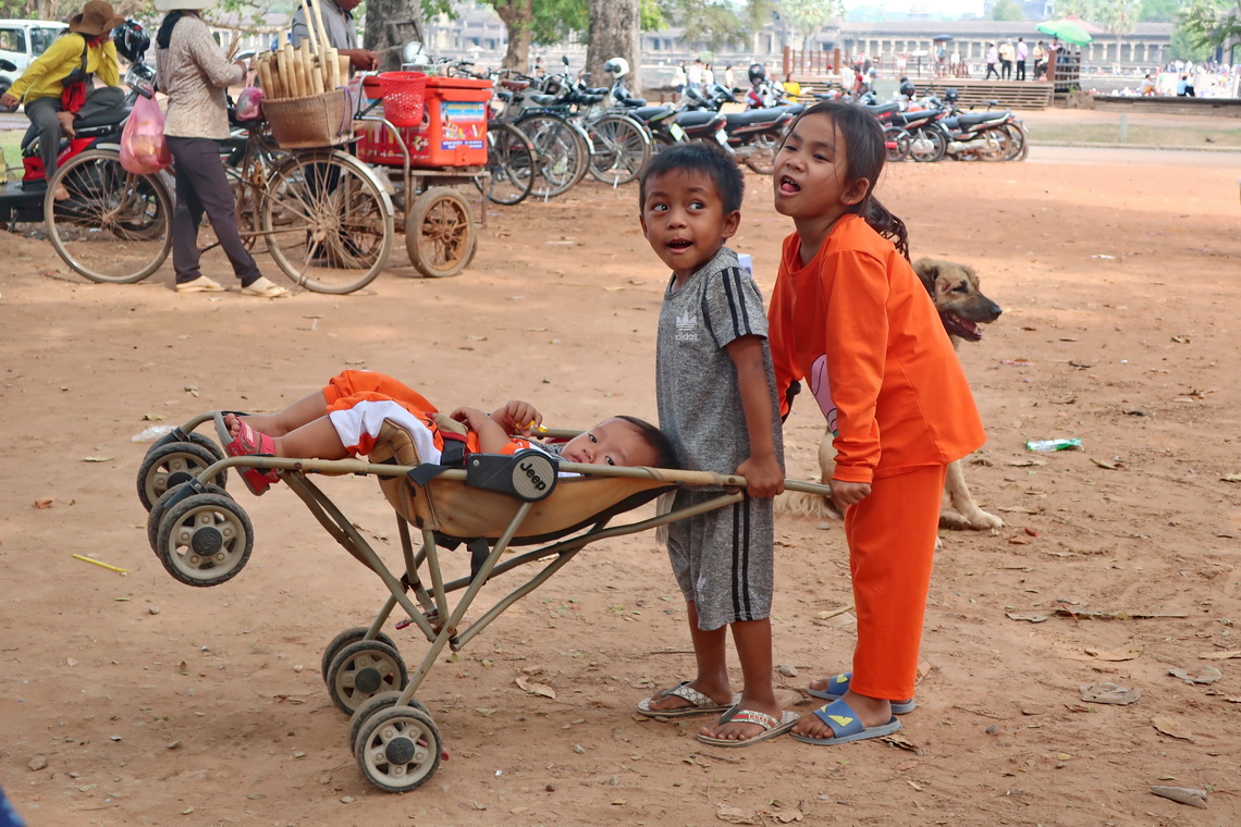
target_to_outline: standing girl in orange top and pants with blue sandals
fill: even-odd
[[[985,436],[934,305],[908,264],[905,224],[875,198],[886,148],[865,109],[810,107],[776,155],[784,239],[772,294],[776,384],[804,379],[835,436],[831,497],[845,512],[858,613],[851,673],[813,694],[798,740],[839,744],[901,728],[913,708],[922,616],[948,462]]]

